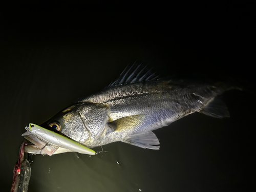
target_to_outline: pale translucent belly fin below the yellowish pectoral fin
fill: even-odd
[[[122,142],[129,143],[141,148],[150,148],[151,150],[159,150],[159,140],[153,132],[139,133],[125,137]]]

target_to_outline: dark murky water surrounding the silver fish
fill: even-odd
[[[128,63],[144,61],[163,76],[253,79],[248,2],[24,4],[6,10],[1,191],[10,190],[24,127],[100,91]],[[33,156],[29,191],[247,191],[255,116],[248,88],[223,95],[230,118],[192,114],[155,131],[158,151],[117,142],[92,157]]]

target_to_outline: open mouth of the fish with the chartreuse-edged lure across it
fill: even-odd
[[[96,155],[96,152],[90,148],[39,125],[30,123],[25,129],[27,132],[22,134],[22,136],[33,143],[25,146],[26,153],[52,156],[53,154],[66,152],[78,152],[81,154]]]

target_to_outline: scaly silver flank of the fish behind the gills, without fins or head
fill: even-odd
[[[123,129],[122,132],[105,131],[105,135],[94,142],[94,146],[120,141],[120,138],[167,126],[188,114],[200,112],[204,107],[203,102],[218,95],[215,91],[209,91],[210,86],[204,83],[189,83],[182,86],[179,86],[179,82],[173,84],[174,86],[171,80],[161,79],[120,84],[81,100],[80,102],[108,105],[110,108],[108,114],[113,121],[133,115],[145,116],[139,124],[133,126],[133,129]],[[201,103],[193,95],[197,95],[202,100]],[[129,126],[127,122],[126,126]],[[108,129],[108,124],[104,129]]]

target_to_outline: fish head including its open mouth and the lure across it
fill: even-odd
[[[47,155],[78,152],[95,155],[88,148],[95,138],[88,128],[91,119],[89,109],[88,103],[76,103],[41,125],[30,123],[22,136],[34,145],[29,145],[26,152]]]

